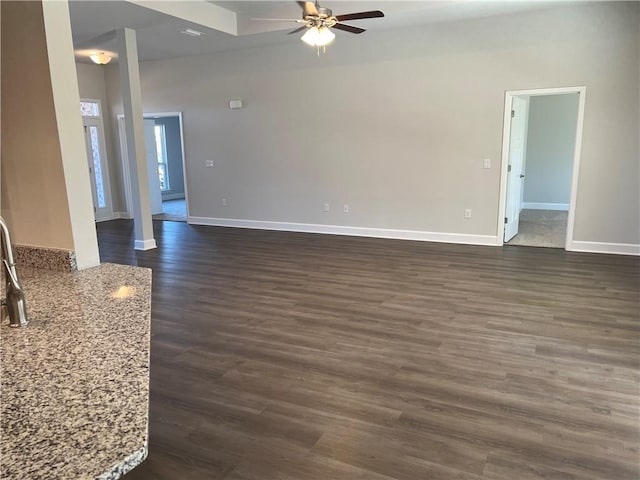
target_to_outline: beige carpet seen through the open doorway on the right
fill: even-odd
[[[564,248],[567,215],[556,210],[522,210],[518,234],[507,245]]]

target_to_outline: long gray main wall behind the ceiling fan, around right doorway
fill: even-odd
[[[638,244],[639,13],[588,2],[339,35],[320,56],[292,38],[145,62],[144,109],[184,113],[192,216],[497,237],[505,91],[586,85],[574,238]]]

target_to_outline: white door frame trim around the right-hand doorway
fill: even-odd
[[[580,155],[582,148],[582,127],[584,124],[584,107],[587,95],[586,86],[540,88],[535,90],[509,90],[505,92],[504,101],[504,129],[502,132],[502,169],[500,174],[500,203],[498,207],[498,245],[504,245],[504,216],[507,198],[507,165],[509,163],[509,140],[511,138],[511,101],[513,97],[541,95],[563,95],[577,93],[578,119],[576,125],[576,143],[573,150],[573,172],[571,177],[571,198],[569,200],[569,215],[567,218],[567,237],[565,250],[573,250],[573,223],[576,214],[576,199],[578,197],[578,173],[580,170]]]

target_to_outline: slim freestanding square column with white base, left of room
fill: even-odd
[[[118,63],[122,84],[122,104],[127,137],[127,156],[131,178],[131,203],[135,233],[135,249],[156,248],[153,238],[149,177],[144,142],[142,93],[136,32],[130,28],[118,30]]]

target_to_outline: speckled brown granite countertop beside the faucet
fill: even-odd
[[[0,327],[0,478],[117,479],[147,455],[151,270],[23,268]]]

